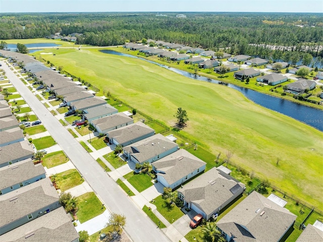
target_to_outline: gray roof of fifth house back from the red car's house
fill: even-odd
[[[124,113],[117,113],[111,116],[95,119],[92,121],[94,125],[97,125],[101,130],[109,129],[116,127],[121,124],[128,123],[133,121],[132,118],[128,117]]]

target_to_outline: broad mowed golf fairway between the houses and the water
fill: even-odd
[[[99,49],[50,52],[56,56],[42,58],[169,126],[182,107],[190,120],[181,132],[199,146],[215,155],[221,152],[222,158],[231,151],[233,162],[323,210],[322,132],[255,105],[227,86],[195,81],[141,60]]]

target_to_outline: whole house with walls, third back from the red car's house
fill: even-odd
[[[178,150],[178,145],[161,134],[155,134],[123,148],[123,153],[135,163],[152,163]]]

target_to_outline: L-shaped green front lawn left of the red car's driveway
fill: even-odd
[[[154,200],[155,202],[153,204],[157,207],[157,211],[161,215],[163,215],[170,223],[174,223],[177,219],[184,215],[181,209],[177,206],[169,208],[169,206],[166,205],[165,200],[161,198],[161,195],[155,198]]]

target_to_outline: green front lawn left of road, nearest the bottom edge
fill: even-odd
[[[79,210],[76,215],[80,223],[84,223],[105,211],[105,207],[102,206],[94,192],[87,192],[77,198],[79,200]]]

